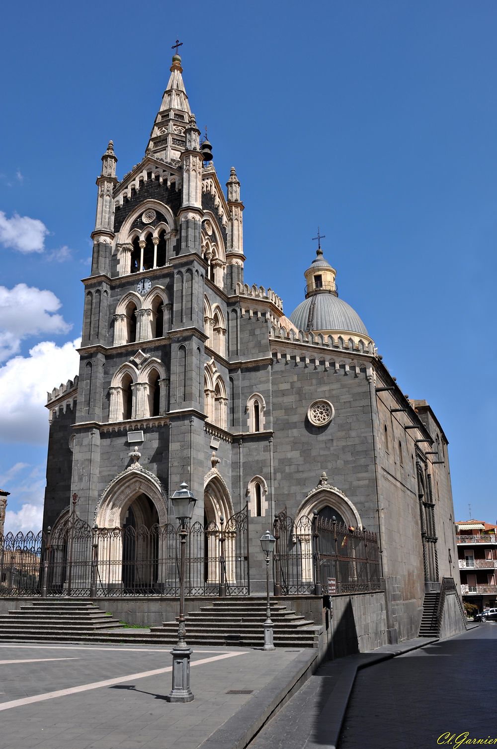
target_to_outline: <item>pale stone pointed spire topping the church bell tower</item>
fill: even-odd
[[[170,163],[176,163],[185,151],[185,130],[192,114],[181,73],[180,55],[173,55],[171,76],[147,145],[147,154]]]

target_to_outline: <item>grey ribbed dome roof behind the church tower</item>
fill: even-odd
[[[326,260],[318,262],[326,263]],[[309,313],[313,307],[311,327],[308,327]],[[335,294],[313,294],[293,310],[290,321],[299,330],[343,330],[368,336],[368,330],[356,310],[344,300],[335,297]]]

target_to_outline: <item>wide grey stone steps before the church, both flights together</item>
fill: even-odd
[[[103,601],[104,603],[104,601]],[[112,609],[112,599],[105,601]],[[186,615],[186,641],[189,645],[263,646],[263,598],[219,598],[212,605]],[[272,602],[276,647],[317,647],[321,627],[297,615],[284,604]],[[177,622],[147,628],[123,628],[91,601],[33,599],[0,616],[0,641],[114,643],[116,645],[167,645],[177,640]]]

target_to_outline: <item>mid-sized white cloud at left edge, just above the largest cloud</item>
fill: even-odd
[[[22,339],[41,333],[67,333],[72,325],[55,314],[61,302],[52,291],[19,283],[0,286],[0,362],[17,354]]]

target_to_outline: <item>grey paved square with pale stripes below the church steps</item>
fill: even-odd
[[[0,749],[241,745],[250,722],[282,699],[285,685],[304,678],[316,656],[313,649],[195,648],[195,700],[171,705],[164,699],[171,689],[168,648],[1,645]],[[220,734],[235,715],[238,725]]]

